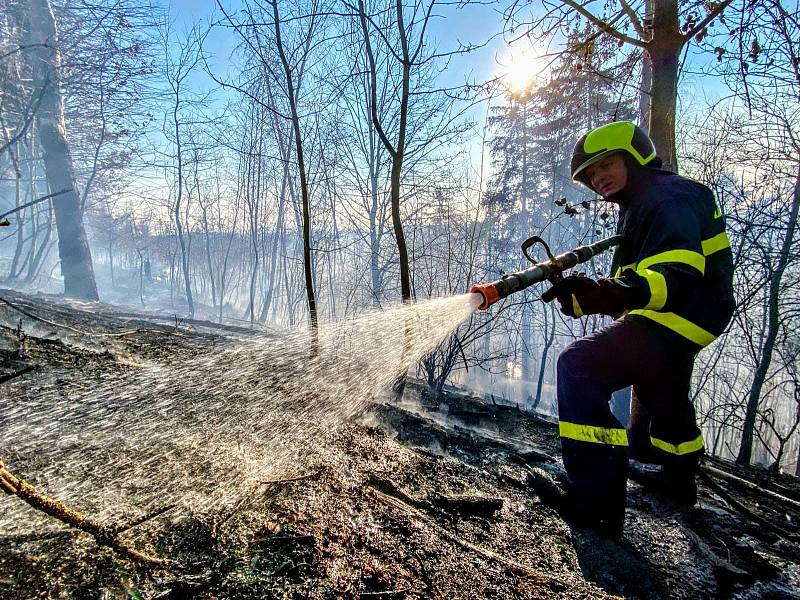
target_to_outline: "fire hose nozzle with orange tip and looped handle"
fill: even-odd
[[[557,283],[563,279],[564,271],[567,269],[572,269],[576,265],[591,260],[592,257],[597,256],[598,254],[619,246],[623,239],[624,236],[615,235],[610,238],[594,242],[593,244],[579,246],[574,250],[564,252],[558,256],[553,256],[553,254],[550,252],[550,247],[547,245],[547,242],[545,242],[539,236],[533,236],[525,240],[525,243],[522,244],[522,253],[529,261],[533,263],[532,267],[529,267],[523,271],[517,271],[516,273],[503,275],[503,277],[492,283],[476,283],[469,288],[469,292],[483,296],[483,302],[481,302],[481,305],[478,308],[480,310],[487,310],[495,302],[498,302],[499,300],[502,300],[511,294],[524,290],[525,288],[532,286],[534,283],[540,283],[542,281],[550,281],[553,284]],[[528,254],[528,249],[535,244],[541,244],[544,246],[545,252],[547,252],[547,260],[537,262],[531,258],[531,256]]]

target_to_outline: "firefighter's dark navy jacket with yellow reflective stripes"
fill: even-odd
[[[697,181],[656,169],[630,175],[610,198],[620,204],[617,232],[626,238],[614,255],[612,281],[628,315],[706,346],[734,309],[725,219]]]

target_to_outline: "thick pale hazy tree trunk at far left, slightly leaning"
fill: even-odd
[[[30,15],[34,86],[43,90],[36,125],[45,172],[51,190],[70,190],[53,202],[64,294],[81,300],[97,300],[92,254],[83,227],[72,156],[66,140],[59,79],[61,57],[49,0],[30,0]]]

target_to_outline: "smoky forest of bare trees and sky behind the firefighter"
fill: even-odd
[[[797,0],[198,4],[0,0],[0,300],[20,348],[15,307],[50,310],[41,294],[312,351],[362,317],[400,336],[398,306],[527,268],[531,236],[612,236],[618,208],[570,158],[631,120],[730,237],[734,316],[692,378],[706,453],[800,475]],[[581,269],[609,276],[611,253]],[[454,331],[403,350],[408,385],[552,419],[559,352],[610,319],[544,289],[460,321],[443,302]]]

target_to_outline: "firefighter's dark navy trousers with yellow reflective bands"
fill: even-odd
[[[694,470],[703,440],[689,398],[698,348],[644,317],[629,315],[567,346],[558,358],[559,433],[578,498],[600,512],[625,508],[628,436],[611,395],[633,386],[650,413],[652,451],[665,467]]]

